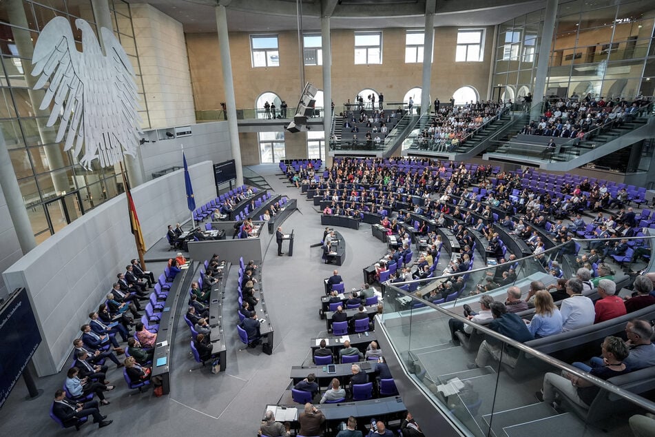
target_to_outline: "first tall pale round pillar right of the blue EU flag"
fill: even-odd
[[[227,11],[225,6],[216,6],[216,27],[218,28],[218,45],[220,47],[220,63],[223,72],[223,88],[225,88],[225,104],[227,105],[227,126],[230,134],[232,158],[236,167],[236,184],[243,185],[243,168],[241,166],[241,148],[239,145],[239,126],[236,121],[236,98],[234,97],[234,82],[232,80],[232,61],[230,59],[229,37],[227,35]]]

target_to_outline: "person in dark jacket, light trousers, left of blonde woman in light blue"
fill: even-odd
[[[494,319],[489,323],[489,329],[493,329],[495,332],[521,343],[525,343],[534,338],[528,327],[526,327],[526,323],[516,314],[507,312],[505,304],[502,302],[494,302],[491,304],[491,314]],[[507,354],[506,351],[503,350],[503,343],[496,338],[488,337],[480,345],[480,348],[477,351],[477,356],[475,357],[475,363],[470,363],[468,368],[475,369],[476,367],[486,367],[490,360],[497,363],[501,358],[501,355],[503,363],[510,366],[516,365],[516,358],[512,356],[512,354]]]

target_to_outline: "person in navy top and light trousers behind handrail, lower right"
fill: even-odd
[[[632,370],[624,363],[630,350],[621,338],[605,337],[602,352],[606,364],[603,367],[592,367],[589,372],[596,378],[607,380]],[[568,372],[563,372],[562,376],[548,372],[543,377],[543,388],[541,392],[537,392],[537,398],[549,405],[552,404],[555,400],[555,388],[572,403],[585,409],[589,408],[600,390],[600,387]]]

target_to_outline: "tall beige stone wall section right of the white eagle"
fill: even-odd
[[[151,127],[195,123],[182,24],[145,3],[130,9]]]

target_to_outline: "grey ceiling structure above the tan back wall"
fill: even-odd
[[[227,8],[230,32],[298,30],[296,0],[127,0],[148,3],[183,24],[185,33],[216,32],[214,6]],[[494,26],[544,7],[543,1],[428,0],[436,3],[435,27]],[[423,28],[426,0],[302,0],[302,28],[320,30],[322,14],[332,29]],[[322,8],[327,8],[325,13]]]

